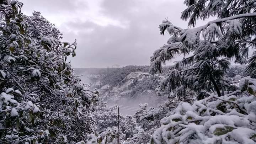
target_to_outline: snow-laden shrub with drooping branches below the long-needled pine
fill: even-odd
[[[246,82],[247,81],[247,82]],[[255,89],[256,79],[242,78],[242,91]],[[256,97],[241,90],[218,97],[180,102],[174,114],[161,119],[151,143],[155,144],[255,144]]]

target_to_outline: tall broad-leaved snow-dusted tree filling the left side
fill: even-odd
[[[16,0],[0,1],[0,143],[74,143],[94,132],[98,92],[74,74],[76,42]]]

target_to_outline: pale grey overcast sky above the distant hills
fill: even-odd
[[[183,0],[20,0],[22,12],[40,11],[63,33],[63,41],[77,39],[74,68],[150,65],[153,52],[166,44],[159,24],[180,20]],[[205,22],[199,22],[203,25]]]

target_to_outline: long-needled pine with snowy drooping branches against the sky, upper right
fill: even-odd
[[[168,71],[161,82],[162,89],[180,91],[183,96],[195,92],[215,91],[223,96],[230,59],[246,64],[249,48],[256,44],[255,0],[185,0],[187,8],[181,19],[188,20],[190,28],[183,29],[164,20],[160,33],[167,31],[171,38],[151,57],[151,73],[162,73],[162,64],[183,55],[181,61]],[[198,19],[218,19],[195,27]],[[192,27],[192,28],[191,28]],[[256,53],[249,59],[247,74],[256,75]],[[222,91],[222,92],[221,92]],[[181,96],[181,95],[177,95]]]

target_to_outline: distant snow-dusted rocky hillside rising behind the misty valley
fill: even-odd
[[[108,104],[121,104],[137,107],[140,103],[158,104],[164,96],[158,97],[158,85],[164,77],[150,75],[145,72],[129,72],[129,69],[110,69],[105,73],[92,71],[91,69],[80,70],[77,73],[83,75],[80,78],[91,83],[91,89],[97,89]],[[89,72],[88,72],[89,71]],[[103,70],[101,70],[103,71]],[[165,97],[166,98],[166,97]]]

